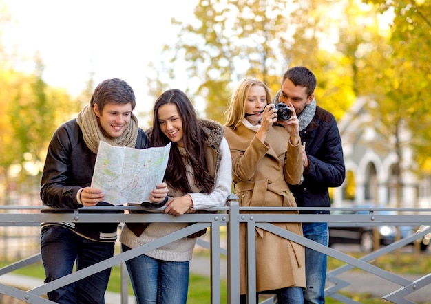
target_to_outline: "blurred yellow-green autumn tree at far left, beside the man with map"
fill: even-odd
[[[25,184],[31,184],[28,180],[39,186],[52,133],[80,106],[64,89],[45,83],[39,56],[34,59],[34,72],[15,69],[26,59],[13,46],[4,46],[3,33],[7,33],[12,18],[1,0],[0,13],[0,188],[6,189],[0,193],[3,203],[8,202],[10,188],[25,188]]]

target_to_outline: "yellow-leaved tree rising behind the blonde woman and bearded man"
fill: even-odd
[[[171,54],[167,82],[153,77],[157,80],[149,85],[164,87],[184,70],[178,65],[185,61],[187,93],[206,102],[209,118],[222,122],[240,78],[260,78],[275,93],[288,67],[305,65],[318,79],[317,103],[340,118],[356,96],[353,66],[346,64],[348,57],[337,50],[333,37],[339,36],[339,24],[350,19],[344,11],[356,13],[350,9],[355,6],[353,0],[200,0],[195,19],[173,20],[179,35],[174,45],[164,47]],[[359,27],[364,30],[363,24],[356,26],[358,33]]]

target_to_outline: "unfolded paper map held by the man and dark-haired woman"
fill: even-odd
[[[167,146],[133,149],[98,146],[92,187],[105,194],[105,202],[114,205],[149,202],[149,196],[165,175],[171,143]]]

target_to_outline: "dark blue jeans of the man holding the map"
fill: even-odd
[[[113,256],[114,243],[91,241],[61,226],[46,226],[41,231],[41,254],[45,283],[71,274]],[[111,268],[48,292],[56,303],[105,303],[105,291]]]

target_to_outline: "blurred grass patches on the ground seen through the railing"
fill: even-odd
[[[205,255],[205,252],[200,253],[199,255]],[[348,253],[352,257],[360,258],[363,254],[360,253]],[[428,257],[428,256],[426,256]],[[395,273],[403,273],[403,274],[424,274],[431,273],[431,259],[424,258],[422,255],[418,256],[417,254],[406,253],[404,252],[399,256],[399,260],[395,254],[386,254],[383,257],[379,257],[377,261],[372,261],[374,265],[377,265],[384,270],[389,270]],[[9,265],[10,263],[0,262],[0,268]],[[333,270],[335,268],[341,267],[345,265],[344,262],[339,261],[337,259],[333,259],[332,257],[328,257],[328,270]],[[356,268],[353,271],[362,271],[357,270]],[[34,263],[33,265],[29,265],[25,268],[21,268],[19,270],[15,270],[13,273],[15,274],[23,274],[26,276],[33,276],[39,279],[44,279],[45,273],[43,271],[43,265],[41,263]],[[227,281],[222,279],[220,282],[221,286],[221,294],[220,303],[227,303]],[[120,267],[114,266],[112,268],[111,279],[109,280],[108,290],[110,292],[120,292]],[[129,294],[133,294],[132,287],[129,284]],[[372,298],[370,294],[353,294],[353,293],[344,293],[348,298],[353,299],[354,301],[359,301],[364,304],[375,304],[375,303],[387,303],[383,301],[381,298]],[[191,273],[189,277],[189,295],[187,304],[200,304],[200,303],[211,303],[211,281],[206,276],[200,276]],[[326,303],[328,304],[339,304],[341,302],[335,301],[331,298],[326,299]]]

